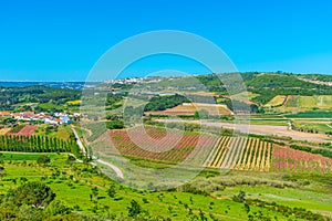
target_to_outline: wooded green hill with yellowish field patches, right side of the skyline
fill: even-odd
[[[197,95],[199,93],[203,94],[201,92],[208,92],[216,97],[218,103],[220,101],[221,104],[228,104],[230,97],[246,103],[246,94],[243,94],[243,92],[247,91],[248,99],[252,102],[251,104],[257,104],[261,107],[290,105],[290,102],[286,102],[286,97],[299,96],[300,102],[297,103],[297,108],[299,109],[330,108],[330,105],[325,105],[325,97],[328,97],[326,101],[329,103],[330,95],[332,95],[332,85],[330,85],[332,76],[330,75],[258,72],[240,73],[240,75],[243,80],[245,87],[239,86],[238,91],[236,88],[238,78],[235,77],[232,84],[232,74],[165,77],[158,83],[151,84],[152,86],[149,88],[159,92],[168,92],[172,90],[172,92],[180,94],[196,93]],[[220,78],[222,80],[225,77],[230,82],[228,87],[222,85],[220,81]],[[234,92],[231,96],[228,94],[229,88]],[[241,98],[239,98],[239,95],[241,95]],[[324,105],[321,105],[322,101]],[[290,109],[286,108],[284,110]]]

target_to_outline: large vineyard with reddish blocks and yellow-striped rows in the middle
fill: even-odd
[[[331,172],[332,159],[259,138],[218,137],[209,134],[166,130],[157,127],[110,131],[112,144],[124,156],[170,162],[193,154],[204,156],[206,167],[252,171]],[[142,148],[143,147],[143,148]]]

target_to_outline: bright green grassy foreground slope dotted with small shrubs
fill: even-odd
[[[21,154],[24,156],[25,154]],[[247,220],[247,213],[243,204],[230,200],[231,196],[225,199],[216,199],[210,196],[191,194],[177,191],[163,192],[144,192],[133,190],[126,187],[115,185],[115,199],[106,194],[106,190],[111,183],[106,179],[96,173],[90,172],[91,165],[68,162],[66,155],[52,155],[52,161],[49,166],[39,166],[35,160],[17,160],[10,162],[4,160],[7,176],[2,178],[0,185],[0,193],[6,193],[9,189],[17,188],[22,185],[20,178],[25,177],[29,181],[42,181],[51,187],[55,192],[56,199],[63,200],[69,207],[79,206],[82,212],[93,213],[94,202],[91,201],[92,187],[98,188],[97,204],[98,214],[103,212],[103,208],[108,207],[111,213],[120,215],[127,214],[127,207],[131,201],[136,200],[143,210],[147,210],[153,215],[169,217],[172,220],[188,220],[188,208],[198,215],[201,210],[206,217],[212,214],[219,220]],[[58,176],[52,176],[58,170]],[[82,172],[84,171],[84,172]],[[72,176],[72,177],[71,177]],[[53,177],[53,178],[52,178]],[[238,192],[236,192],[238,193]],[[147,200],[147,203],[143,202]],[[169,209],[172,212],[169,212]],[[287,220],[281,213],[250,206],[251,212],[261,211],[263,215],[270,218],[277,217],[278,220]],[[292,215],[290,217],[294,219]]]

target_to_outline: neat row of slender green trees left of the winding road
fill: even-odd
[[[0,150],[25,152],[73,152],[80,155],[80,147],[74,140],[50,138],[48,136],[0,136]]]

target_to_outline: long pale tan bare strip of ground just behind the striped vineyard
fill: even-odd
[[[230,124],[218,122],[199,122],[199,120],[180,120],[180,119],[157,119],[158,122],[178,122],[178,123],[193,123],[204,124],[207,126],[224,127],[228,129],[236,129],[241,133],[257,134],[257,135],[277,135],[287,136],[297,140],[308,140],[314,143],[323,143],[331,140],[326,135],[322,134],[309,134],[295,130],[288,130],[287,126],[269,126],[269,125],[246,125],[246,124]]]

